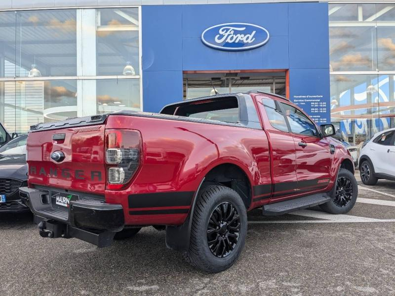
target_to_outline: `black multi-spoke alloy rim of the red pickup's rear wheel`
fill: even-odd
[[[207,243],[211,253],[224,258],[236,248],[240,234],[240,216],[230,202],[218,205],[207,225]]]

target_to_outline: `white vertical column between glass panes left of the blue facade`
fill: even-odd
[[[96,10],[77,9],[77,75],[96,75]],[[96,80],[77,82],[77,115],[96,114]]]

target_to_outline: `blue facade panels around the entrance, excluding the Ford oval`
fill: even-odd
[[[235,22],[264,27],[269,41],[243,51],[201,41],[205,29]],[[288,69],[290,99],[330,122],[327,3],[143,6],[142,48],[144,111],[182,100],[183,71]]]

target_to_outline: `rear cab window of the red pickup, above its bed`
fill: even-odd
[[[237,98],[227,98],[211,102],[192,102],[191,104],[180,106],[174,115],[231,123],[239,122]]]

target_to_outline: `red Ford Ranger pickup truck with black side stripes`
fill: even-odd
[[[240,255],[249,210],[353,208],[353,159],[334,132],[259,91],[40,123],[20,195],[43,237],[105,247],[153,225],[168,248],[219,272]]]

